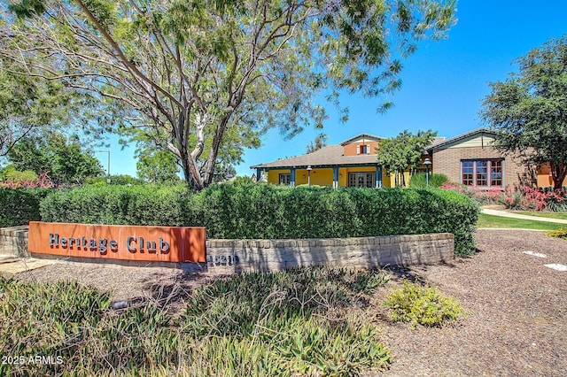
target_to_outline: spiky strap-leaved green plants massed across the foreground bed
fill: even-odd
[[[114,310],[74,282],[0,276],[0,354],[50,356],[2,375],[353,375],[387,367],[376,325],[353,311],[388,281],[381,271],[294,268],[243,273],[196,289],[181,314],[159,301]],[[360,313],[360,312],[358,312]]]

